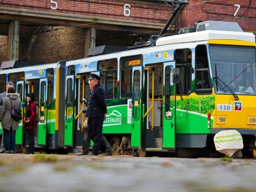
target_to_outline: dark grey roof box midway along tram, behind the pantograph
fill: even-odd
[[[115,53],[127,50],[126,46],[113,46],[113,45],[102,45],[98,47],[92,47],[88,51],[88,57],[108,54],[108,53]]]

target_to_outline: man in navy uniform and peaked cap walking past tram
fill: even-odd
[[[88,101],[86,119],[88,120],[88,136],[94,142],[92,152],[88,155],[98,155],[100,151],[100,141],[104,114],[107,113],[107,104],[105,102],[105,90],[100,84],[100,76],[90,74],[88,78],[92,91]]]

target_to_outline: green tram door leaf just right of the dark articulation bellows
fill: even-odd
[[[66,76],[64,146],[73,145],[74,126],[74,75]]]

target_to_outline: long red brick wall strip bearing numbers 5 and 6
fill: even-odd
[[[107,17],[114,19],[137,20],[146,22],[165,22],[170,10],[160,8],[155,12],[158,2],[135,0],[1,0],[0,5],[22,10],[37,10],[58,14],[77,14],[79,16]],[[131,16],[124,16],[124,5],[130,4]],[[52,7],[52,8],[51,8]],[[56,9],[55,9],[56,8]]]

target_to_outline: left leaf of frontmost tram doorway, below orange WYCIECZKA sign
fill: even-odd
[[[137,66],[132,68],[132,147],[141,146],[142,110],[142,66]]]

